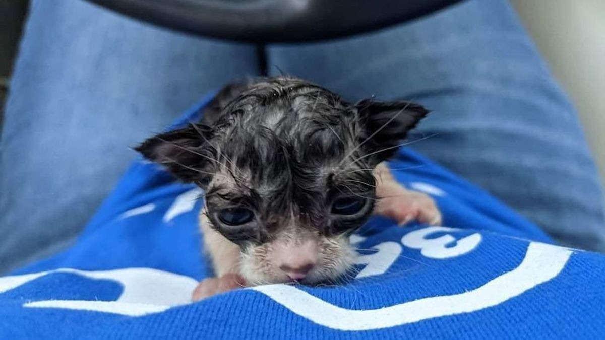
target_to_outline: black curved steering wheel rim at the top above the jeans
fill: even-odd
[[[246,42],[339,38],[426,15],[459,0],[90,0],[134,18]]]

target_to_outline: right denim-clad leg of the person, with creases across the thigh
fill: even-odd
[[[605,251],[603,195],[574,108],[511,6],[471,0],[352,39],[269,48],[269,67],[358,100],[433,110],[414,148],[544,227]]]

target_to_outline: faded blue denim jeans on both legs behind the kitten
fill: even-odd
[[[68,246],[135,156],[204,93],[260,73],[257,47],[33,0],[0,140],[0,272]],[[269,69],[350,100],[420,102],[413,144],[562,244],[605,251],[574,108],[505,0],[469,0],[338,41],[266,47]]]

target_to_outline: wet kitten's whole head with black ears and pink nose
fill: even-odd
[[[427,114],[407,102],[351,105],[290,77],[249,84],[201,123],[137,150],[205,191],[211,226],[241,248],[247,281],[316,283],[353,265],[373,169]]]

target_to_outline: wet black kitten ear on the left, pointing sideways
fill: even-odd
[[[189,125],[151,137],[134,149],[186,183],[208,183],[212,177],[211,160],[216,159],[214,148],[208,147],[211,137],[208,126]]]

